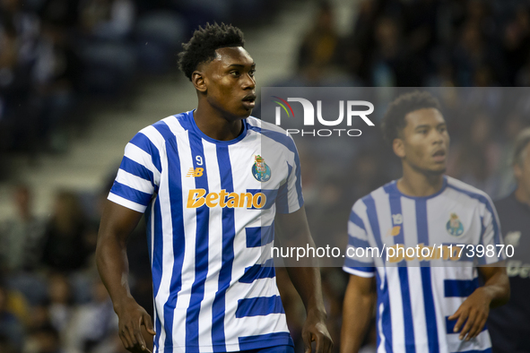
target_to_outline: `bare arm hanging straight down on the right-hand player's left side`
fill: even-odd
[[[341,353],[358,352],[376,304],[375,277],[350,275],[344,294]]]

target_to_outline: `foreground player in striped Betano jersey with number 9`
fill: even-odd
[[[250,116],[255,63],[230,25],[195,30],[179,56],[198,106],[144,128],[125,156],[101,219],[100,276],[126,349],[293,352],[270,247],[274,224],[313,244],[291,137]],[[276,212],[277,211],[277,212]],[[126,238],[145,213],[154,326],[131,297]],[[275,220],[275,222],[274,222]],[[303,338],[329,352],[320,274],[288,269],[307,310]]]

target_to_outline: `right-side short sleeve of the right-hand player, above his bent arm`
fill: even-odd
[[[485,196],[483,199],[485,208],[482,216],[482,235],[481,245],[484,245],[484,255],[478,257],[478,263],[481,265],[498,263],[506,260],[504,251],[500,251],[504,241],[500,233],[500,221],[495,210],[495,206],[489,196]],[[500,245],[500,246],[497,246]],[[493,252],[487,251],[493,249]]]

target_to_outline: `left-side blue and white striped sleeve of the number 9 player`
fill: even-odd
[[[159,150],[145,134],[136,133],[126,145],[108,199],[143,213],[158,192],[160,176]]]

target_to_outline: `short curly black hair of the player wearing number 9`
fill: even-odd
[[[206,23],[199,26],[187,43],[182,43],[184,50],[178,54],[178,68],[191,81],[191,74],[197,66],[215,58],[215,50],[220,47],[245,47],[243,32],[231,24]]]

